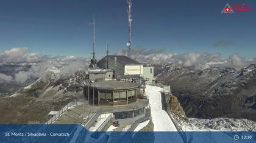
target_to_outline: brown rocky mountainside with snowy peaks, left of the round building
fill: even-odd
[[[78,71],[75,76],[60,78],[60,73],[55,71],[48,71],[46,79],[40,78],[12,96],[1,97],[0,123],[43,123],[50,111],[58,111],[77,98],[82,92],[80,83],[86,73]]]

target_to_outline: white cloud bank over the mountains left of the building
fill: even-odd
[[[62,76],[74,75],[79,68],[88,68],[90,59],[77,58],[76,56],[55,56],[50,57],[39,53],[30,53],[28,48],[12,48],[0,53],[0,64],[32,64],[28,70],[16,68],[13,76],[7,76],[1,73],[0,83],[16,82],[24,83],[30,79],[46,78],[48,70],[57,67],[61,71]]]

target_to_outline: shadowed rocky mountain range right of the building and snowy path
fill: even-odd
[[[177,65],[156,66],[157,77],[171,85],[190,118],[245,118],[256,121],[256,65],[196,70]]]

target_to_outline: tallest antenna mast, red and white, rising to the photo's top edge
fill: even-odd
[[[132,46],[132,1],[126,0],[128,4],[127,13],[128,13],[128,24],[129,24],[129,38],[127,42],[127,48],[128,48],[128,57],[130,58],[130,48]]]

